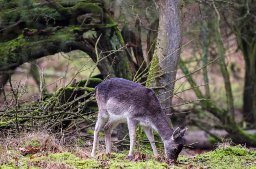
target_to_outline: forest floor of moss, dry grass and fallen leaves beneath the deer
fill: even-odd
[[[219,148],[203,154],[180,155],[169,160],[134,152],[103,154],[90,157],[90,148],[70,148],[54,136],[41,133],[0,139],[0,169],[256,169],[256,151],[241,145],[219,144]],[[102,150],[103,152],[103,150]]]

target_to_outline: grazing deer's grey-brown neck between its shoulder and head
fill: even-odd
[[[164,113],[161,113],[161,117],[158,117],[154,124],[154,129],[161,136],[163,142],[171,139],[172,134],[174,133],[173,128],[171,128],[168,120],[166,119]]]

